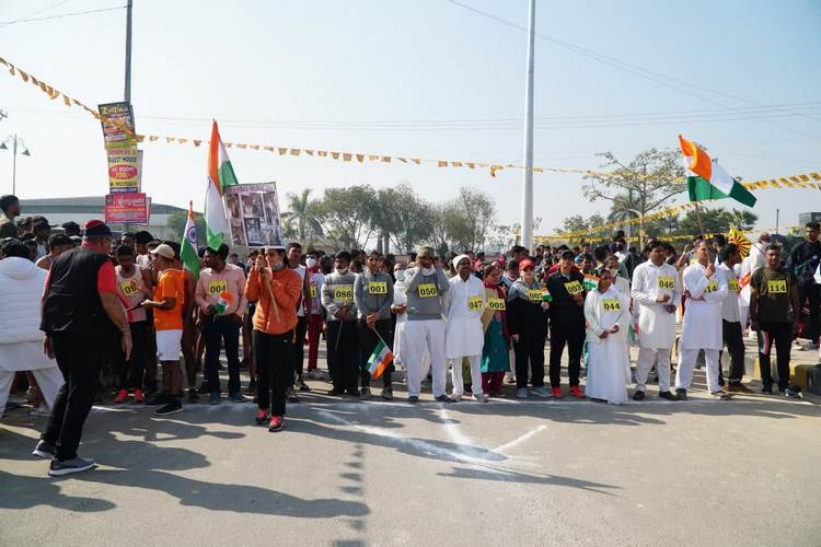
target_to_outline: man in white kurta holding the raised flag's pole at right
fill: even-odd
[[[695,247],[696,263],[684,269],[684,322],[679,349],[679,370],[675,372],[675,394],[686,400],[698,350],[704,350],[707,362],[707,388],[721,399],[729,395],[718,385],[718,354],[724,347],[721,328],[721,303],[727,298],[727,278],[717,272],[709,259],[707,243],[701,241]]]

